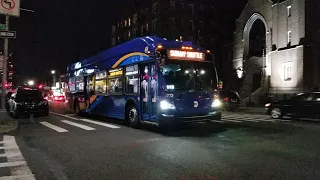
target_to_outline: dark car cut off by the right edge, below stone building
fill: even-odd
[[[274,119],[290,116],[294,118],[320,117],[320,92],[300,93],[287,100],[265,105],[267,114]]]

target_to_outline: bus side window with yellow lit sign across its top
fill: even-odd
[[[123,72],[122,69],[113,69],[109,71],[108,93],[123,92]]]

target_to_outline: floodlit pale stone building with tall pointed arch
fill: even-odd
[[[233,68],[244,101],[320,85],[318,0],[249,0],[236,21]]]

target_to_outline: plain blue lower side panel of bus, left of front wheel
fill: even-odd
[[[100,96],[90,105],[91,114],[102,115],[110,118],[125,119],[125,105],[128,99],[136,101],[137,109],[140,109],[137,96],[108,95]]]

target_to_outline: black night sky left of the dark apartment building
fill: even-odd
[[[66,66],[110,46],[114,10],[121,0],[21,0],[19,18],[10,19],[17,39],[9,41],[20,82],[45,80],[50,70]],[[3,20],[2,20],[3,22]],[[2,48],[1,40],[1,48]]]

